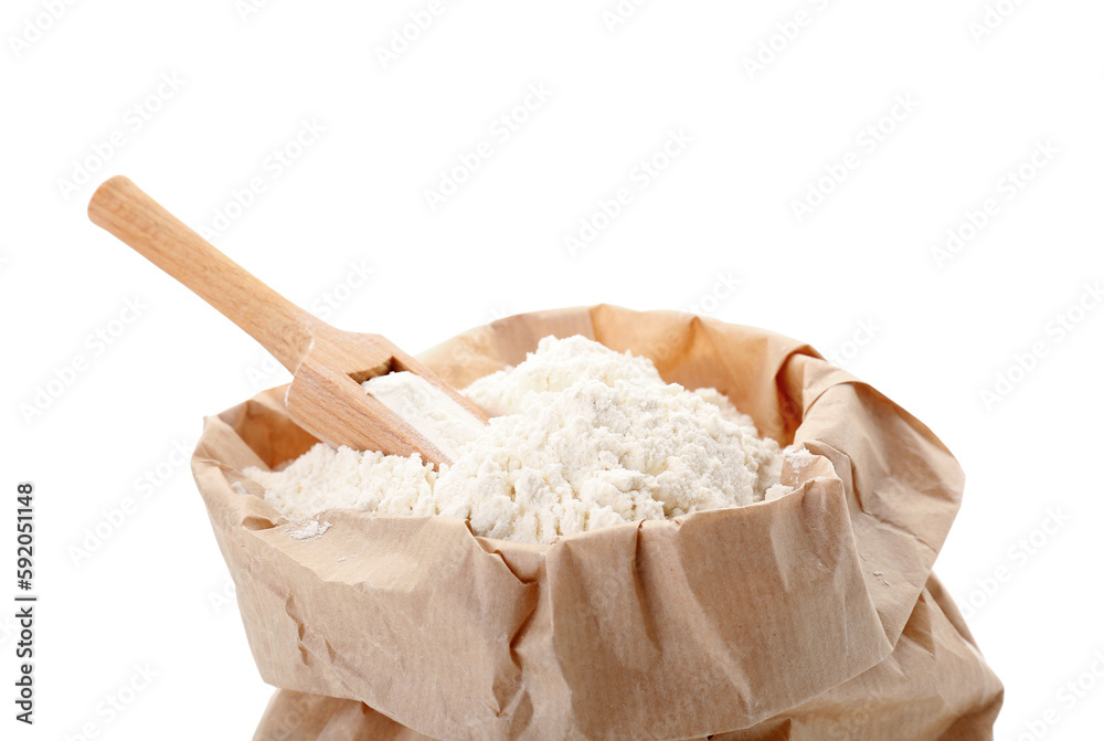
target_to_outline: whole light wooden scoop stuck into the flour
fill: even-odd
[[[487,413],[433,371],[379,335],[330,327],[287,300],[188,229],[128,178],[105,181],[88,218],[222,311],[273,353],[295,378],[285,403],[296,424],[337,447],[450,463],[428,438],[360,385],[373,375],[410,371],[487,423]],[[309,255],[302,258],[309,260]]]

